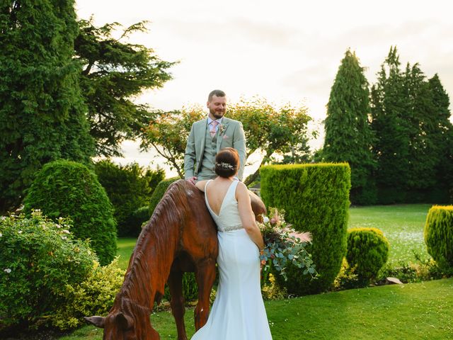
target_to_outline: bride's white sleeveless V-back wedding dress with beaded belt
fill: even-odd
[[[229,186],[218,216],[207,201],[210,182],[205,200],[219,230],[219,285],[207,323],[192,340],[272,339],[261,296],[258,246],[242,227],[235,198],[239,181]]]

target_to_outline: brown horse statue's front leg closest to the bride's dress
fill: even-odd
[[[215,280],[215,259],[205,259],[197,266],[198,302],[195,307],[195,330],[203,327],[210,312],[210,295]]]

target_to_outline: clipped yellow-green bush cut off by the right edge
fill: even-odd
[[[428,253],[442,268],[453,268],[453,205],[433,205],[425,224]]]

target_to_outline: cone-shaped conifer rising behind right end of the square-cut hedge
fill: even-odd
[[[323,157],[328,162],[348,162],[351,167],[352,203],[376,200],[372,171],[373,133],[369,125],[369,90],[364,68],[348,50],[331,89],[325,121]]]

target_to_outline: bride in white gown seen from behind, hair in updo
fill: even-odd
[[[219,239],[219,285],[204,327],[192,340],[268,340],[270,334],[260,290],[259,249],[264,242],[251,210],[247,187],[236,181],[239,156],[222,149],[210,181],[199,181]]]

